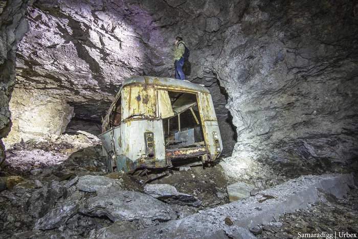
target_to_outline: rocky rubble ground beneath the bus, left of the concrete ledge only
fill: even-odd
[[[219,165],[194,162],[196,166],[141,176],[107,173],[98,138],[80,129],[68,133],[7,147],[0,238],[95,238],[118,220],[118,230],[137,230],[228,203],[227,180]],[[148,185],[158,184],[176,188],[171,202],[168,195],[156,197],[167,203],[149,196]],[[129,208],[117,210],[118,205]]]

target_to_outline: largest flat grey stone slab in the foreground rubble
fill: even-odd
[[[176,219],[168,204],[136,191],[114,191],[87,199],[79,212],[89,216],[107,216],[111,221]]]

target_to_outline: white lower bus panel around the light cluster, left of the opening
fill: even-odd
[[[137,167],[165,167],[165,147],[162,120],[128,120],[122,123],[123,155]],[[154,157],[146,155],[145,133],[153,133]]]

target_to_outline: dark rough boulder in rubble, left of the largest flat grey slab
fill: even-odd
[[[26,202],[30,215],[34,216],[34,218],[42,218],[53,209],[55,202],[62,196],[63,191],[64,187],[57,181],[53,181],[34,191],[31,198]]]

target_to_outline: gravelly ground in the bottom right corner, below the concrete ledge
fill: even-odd
[[[283,214],[276,222],[263,226],[257,238],[299,238],[322,232],[328,234],[324,238],[339,238],[340,232],[358,235],[358,190],[352,189],[343,199],[324,193],[321,196],[321,201],[307,210]]]

